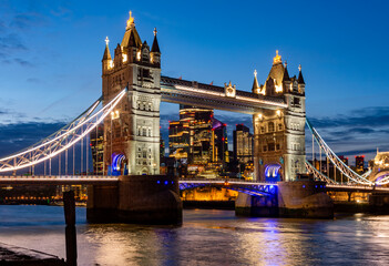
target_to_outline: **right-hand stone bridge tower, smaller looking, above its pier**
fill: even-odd
[[[255,72],[253,92],[281,98],[286,109],[263,110],[253,116],[255,176],[259,181],[294,181],[305,170],[305,82],[301,68],[290,78],[281,57],[274,58],[265,85]]]

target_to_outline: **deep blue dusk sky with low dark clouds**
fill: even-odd
[[[0,155],[50,135],[101,95],[111,53],[132,10],[142,41],[162,51],[162,74],[250,91],[275,51],[301,64],[307,117],[338,154],[389,151],[387,1],[0,1]],[[161,105],[167,121],[178,106]],[[229,125],[249,115],[216,112]],[[309,139],[307,136],[307,139]],[[231,139],[229,139],[231,140]],[[307,141],[307,154],[310,142]],[[352,161],[352,160],[351,160]]]

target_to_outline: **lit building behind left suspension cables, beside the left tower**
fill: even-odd
[[[93,174],[104,174],[104,125],[100,124],[95,130],[90,133],[92,160],[93,160]]]

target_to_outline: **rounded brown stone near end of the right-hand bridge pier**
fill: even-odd
[[[326,194],[326,183],[316,181],[278,182],[281,217],[332,218],[334,203]]]

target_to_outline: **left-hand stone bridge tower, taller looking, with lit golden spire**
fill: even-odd
[[[121,90],[127,95],[104,120],[104,174],[160,174],[161,51],[154,29],[152,49],[142,43],[130,12],[122,43],[102,59],[103,103]]]

